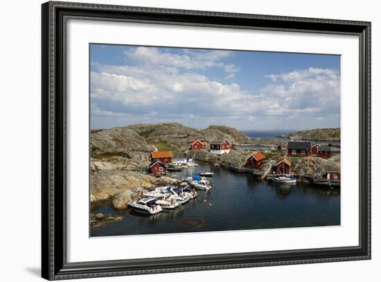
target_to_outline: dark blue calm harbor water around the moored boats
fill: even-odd
[[[340,224],[339,189],[312,184],[285,186],[262,182],[253,175],[200,164],[174,175],[211,171],[213,188],[172,211],[136,215],[131,209],[114,211],[109,202],[93,213],[114,213],[123,220],[91,229],[91,236],[182,233],[285,227],[320,227]]]

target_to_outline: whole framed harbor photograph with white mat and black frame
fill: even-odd
[[[42,5],[42,276],[371,258],[371,24]]]

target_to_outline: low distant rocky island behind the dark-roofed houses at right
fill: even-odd
[[[314,130],[303,130],[290,134],[281,134],[278,135],[278,137],[310,141],[339,141],[340,128],[317,128]]]

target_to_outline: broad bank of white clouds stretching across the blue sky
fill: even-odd
[[[213,66],[221,67],[227,79],[235,76],[240,67],[220,62],[229,55],[227,51],[188,50],[178,55],[139,47],[126,55],[140,63],[133,67],[91,63],[95,119],[114,117],[121,124],[224,123],[239,128],[247,123],[274,128],[274,124],[302,120],[339,121],[339,74],[333,69],[269,74],[269,85],[252,93],[236,83],[222,83],[195,72]]]

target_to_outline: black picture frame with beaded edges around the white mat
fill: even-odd
[[[67,262],[66,238],[66,34],[67,19],[133,21],[287,32],[357,35],[360,39],[360,242],[329,247],[240,254],[211,254],[122,261]],[[247,15],[90,3],[42,4],[42,277],[99,276],[220,270],[236,267],[326,263],[371,258],[371,23]]]

